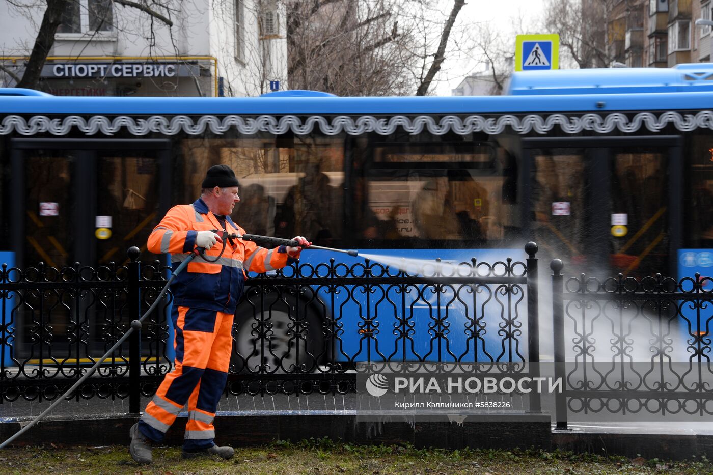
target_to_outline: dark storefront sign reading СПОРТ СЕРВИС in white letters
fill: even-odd
[[[56,63],[42,68],[43,78],[175,78],[199,76],[198,64]]]

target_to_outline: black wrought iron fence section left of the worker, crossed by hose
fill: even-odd
[[[165,285],[160,262],[140,265],[139,250],[128,265],[56,269],[43,264],[0,271],[0,402],[56,399],[80,378],[148,309]],[[120,398],[155,385],[169,370],[168,305],[119,347],[76,399]],[[138,406],[136,406],[138,410]]]

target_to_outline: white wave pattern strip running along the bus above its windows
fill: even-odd
[[[522,118],[513,115],[498,116],[497,118],[485,116],[443,116],[438,121],[432,116],[393,116],[388,120],[374,116],[336,116],[330,121],[324,116],[309,116],[304,122],[297,116],[257,116],[249,118],[242,116],[200,116],[194,120],[189,116],[150,116],[148,119],[133,118],[130,116],[91,116],[86,119],[82,116],[67,116],[65,118],[49,118],[47,116],[32,116],[26,119],[22,116],[6,116],[0,125],[0,135],[12,132],[24,136],[36,133],[51,133],[55,136],[64,136],[77,128],[88,135],[103,133],[113,135],[123,128],[135,136],[145,136],[148,133],[163,133],[176,135],[184,132],[190,135],[200,135],[207,130],[215,134],[223,134],[233,128],[246,135],[255,135],[259,132],[275,134],[292,131],[297,135],[312,133],[315,126],[319,131],[334,136],[347,133],[359,136],[363,133],[375,132],[388,136],[401,127],[411,134],[419,134],[424,128],[434,135],[443,135],[453,132],[458,135],[467,135],[473,132],[484,132],[488,135],[503,133],[510,127],[517,133],[546,133],[555,127],[565,133],[580,133],[581,131],[594,131],[596,133],[610,133],[618,130],[624,133],[634,133],[645,126],[649,131],[657,132],[672,124],[679,131],[693,131],[696,128],[713,128],[713,111],[700,111],[695,114],[681,114],[678,112],[665,112],[656,115],[651,112],[641,112],[632,118],[623,113],[610,113],[602,116],[596,113],[587,113],[582,116],[566,116],[555,113],[549,116],[528,114]]]

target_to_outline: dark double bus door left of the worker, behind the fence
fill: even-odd
[[[60,269],[79,262],[85,267],[81,275],[90,278],[91,268],[110,262],[125,265],[126,250],[132,246],[143,251],[142,260],[153,261],[155,257],[145,251],[146,240],[168,210],[168,144],[148,139],[12,141],[11,240],[17,267],[43,262]],[[53,348],[71,341],[67,332],[74,327],[72,315],[78,315],[73,299],[63,297],[62,304],[43,316],[51,320]],[[99,315],[105,311],[94,302],[79,315],[98,332],[101,325],[93,325],[94,320],[114,318]],[[31,318],[36,316],[19,315],[18,320],[18,343],[27,350],[34,340],[31,329],[36,329]],[[101,354],[98,335],[89,343],[91,352]]]

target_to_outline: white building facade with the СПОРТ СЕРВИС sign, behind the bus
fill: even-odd
[[[56,96],[257,96],[271,84],[287,88],[281,5],[71,0],[39,88]],[[0,87],[24,73],[44,6],[0,2]]]

